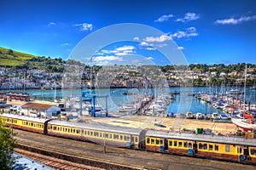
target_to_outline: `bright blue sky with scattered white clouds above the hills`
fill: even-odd
[[[0,47],[29,54],[67,59],[94,31],[138,23],[163,34],[143,38],[134,35],[141,42],[110,44],[97,51],[96,61],[122,62],[125,54],[135,54],[134,58],[143,55],[148,62],[166,65],[158,49],[173,41],[189,64],[255,64],[253,0],[2,0],[0,7]]]

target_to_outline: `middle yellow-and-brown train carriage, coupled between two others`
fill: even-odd
[[[48,133],[71,139],[87,140],[97,144],[134,148],[138,148],[139,144],[139,133],[132,132],[126,127],[106,125],[102,127],[100,124],[51,121],[48,124]]]

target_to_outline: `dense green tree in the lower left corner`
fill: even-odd
[[[15,163],[13,156],[16,141],[13,138],[11,128],[4,126],[4,122],[0,117],[0,167],[1,169],[13,169]]]

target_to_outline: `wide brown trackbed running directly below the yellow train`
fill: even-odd
[[[46,156],[83,163],[103,169],[254,169],[249,165],[224,161],[211,161],[187,156],[173,156],[141,150],[129,150],[108,146],[103,154],[103,146],[63,139],[39,133],[15,129],[19,147]],[[203,165],[203,166],[202,166]],[[113,167],[111,167],[113,166]]]

